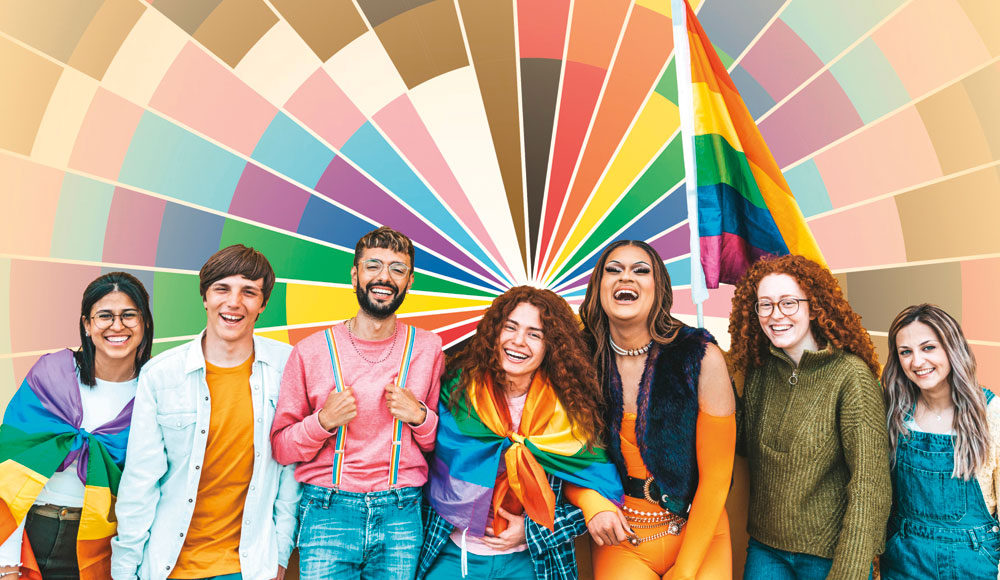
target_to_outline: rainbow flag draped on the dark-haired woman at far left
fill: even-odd
[[[76,548],[80,578],[110,578],[114,502],[131,418],[129,401],[93,432],[81,429],[83,404],[73,353],[63,350],[39,359],[0,426],[0,539],[17,529],[49,478],[75,460],[76,474],[86,486]],[[21,553],[26,577],[40,579],[27,541]]]

